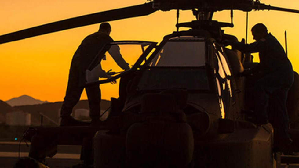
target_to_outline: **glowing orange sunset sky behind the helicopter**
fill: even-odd
[[[145,0],[11,0],[0,5],[0,34],[38,26],[99,11],[143,4]],[[297,0],[262,0],[262,3],[286,8],[298,8]],[[191,11],[181,12],[180,22],[194,20]],[[234,12],[234,28],[225,28],[228,34],[245,38],[245,12]],[[230,22],[229,12],[217,12],[214,20]],[[284,31],[288,34],[288,55],[295,71],[299,71],[299,14],[278,11],[257,11],[249,13],[249,29],[256,23],[264,23],[268,30],[284,46]],[[110,22],[111,37],[114,40],[161,41],[175,28],[176,11],[156,12],[149,16]],[[0,100],[20,95],[30,95],[49,102],[64,98],[68,70],[73,53],[82,39],[98,29],[98,24],[64,30],[34,38],[0,45]],[[249,42],[253,42],[249,32]],[[100,86],[103,99],[118,96],[118,85]],[[86,94],[82,94],[86,99]]]

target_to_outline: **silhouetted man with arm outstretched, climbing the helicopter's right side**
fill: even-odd
[[[223,41],[224,45],[231,45],[232,48],[238,49],[243,53],[259,52],[260,63],[252,68],[246,69],[242,75],[259,73],[259,78],[254,83],[255,110],[251,114],[251,121],[256,124],[268,123],[268,101],[269,96],[275,96],[275,128],[277,144],[284,148],[292,140],[288,133],[289,118],[286,112],[286,99],[288,91],[294,81],[292,65],[284,52],[279,41],[268,33],[267,27],[258,23],[251,29],[253,39],[256,42],[244,44],[236,41]]]

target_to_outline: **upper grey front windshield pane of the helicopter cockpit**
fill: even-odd
[[[149,66],[204,66],[205,53],[204,41],[168,41]]]

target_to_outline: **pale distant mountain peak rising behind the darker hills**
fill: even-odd
[[[37,100],[35,98],[32,98],[28,95],[22,95],[20,97],[17,98],[12,98],[6,101],[7,104],[9,104],[10,106],[19,106],[19,105],[36,105],[36,104],[43,104],[43,103],[47,103],[47,101],[41,101],[41,100]]]

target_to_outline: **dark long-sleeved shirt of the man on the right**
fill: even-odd
[[[271,33],[259,41],[250,44],[233,42],[232,47],[244,53],[259,52],[260,63],[258,69],[264,71],[264,73],[269,73],[280,68],[292,70],[292,65],[283,47]]]

